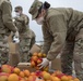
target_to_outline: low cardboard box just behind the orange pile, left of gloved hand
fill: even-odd
[[[19,63],[19,64],[17,64],[17,67],[19,67],[21,70],[23,70],[23,69],[28,69],[31,72],[36,71],[35,68],[32,68],[32,67],[31,67],[31,63]]]

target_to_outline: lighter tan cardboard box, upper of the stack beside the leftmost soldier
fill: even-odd
[[[9,42],[9,53],[19,54],[20,53],[19,43]]]

